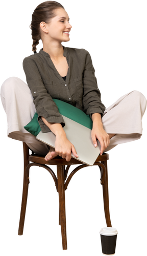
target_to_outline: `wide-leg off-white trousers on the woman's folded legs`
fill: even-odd
[[[50,147],[23,128],[36,112],[33,96],[24,79],[17,75],[4,78],[0,86],[0,99],[6,121],[6,138],[24,141],[34,153],[46,155]],[[139,89],[122,93],[107,106],[102,117],[103,127],[108,134],[116,135],[110,139],[105,153],[112,152],[120,145],[142,140],[146,111],[147,96]]]

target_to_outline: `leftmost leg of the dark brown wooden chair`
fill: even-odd
[[[27,212],[29,205],[29,195],[30,195],[30,184],[27,184],[27,173],[26,168],[29,164],[29,147],[26,143],[21,143],[22,148],[22,179],[21,179],[21,194],[20,194],[20,205],[18,211],[18,222],[16,237],[24,237],[24,232],[26,229]]]

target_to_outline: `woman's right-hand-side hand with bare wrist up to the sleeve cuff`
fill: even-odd
[[[101,153],[102,156],[104,150],[109,146],[110,144],[110,138],[109,135],[105,132],[103,129],[103,123],[101,120],[101,114],[95,113],[92,115],[92,121],[93,121],[93,127],[91,131],[91,138],[93,141],[94,146],[97,146],[97,140],[100,141],[101,144]]]

